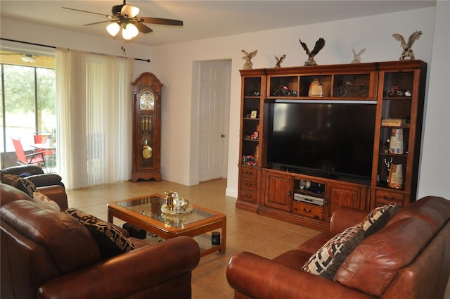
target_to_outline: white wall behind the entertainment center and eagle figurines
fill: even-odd
[[[191,139],[191,136],[195,136],[195,132],[191,131],[195,127],[172,126],[175,120],[170,119],[170,117],[176,115],[176,119],[179,122],[188,123],[191,119],[191,110],[197,107],[195,103],[197,103],[198,99],[191,98],[191,101],[186,100],[193,94],[191,74],[192,64],[195,61],[226,58],[231,58],[232,60],[229,172],[226,192],[227,195],[236,197],[238,163],[240,160],[238,155],[239,136],[237,136],[240,116],[240,75],[238,70],[242,68],[244,63],[241,49],[246,51],[258,50],[257,56],[252,59],[253,68],[273,67],[275,64],[274,55],[279,57],[283,54],[286,54],[286,59],[282,66],[303,65],[307,56],[298,39],[301,38],[303,42],[307,42],[311,48],[316,39],[323,37],[326,39],[326,46],[316,56],[316,61],[320,65],[349,63],[353,58],[352,49],[359,51],[363,48],[367,48],[366,53],[362,56],[363,62],[397,61],[401,54],[401,48],[399,42],[392,37],[392,34],[399,33],[407,39],[413,31],[422,30],[423,35],[416,41],[413,50],[416,58],[429,63],[428,70],[430,71],[434,27],[435,9],[425,8],[366,18],[283,28],[281,30],[267,30],[264,32],[204,39],[175,45],[155,46],[153,53],[158,59],[153,61],[153,68],[158,73],[158,76],[162,78],[162,82],[170,83],[167,84],[165,89],[166,116],[165,120],[163,120],[163,127],[166,129],[162,144],[166,146],[166,151],[163,153],[163,177],[182,184],[193,184],[197,179],[189,175],[189,169],[196,167],[195,163],[192,163],[193,160],[189,159],[189,156],[192,155],[191,148],[195,147],[193,143],[198,142],[196,139]],[[435,42],[437,46],[442,43],[440,40]],[[437,63],[439,64],[439,58]],[[439,69],[442,70],[442,68]],[[440,75],[438,74],[437,76]],[[448,96],[446,98],[437,96],[429,100],[429,105],[439,110],[442,102],[448,101],[448,99]],[[448,111],[446,111],[446,114],[449,114]],[[427,120],[429,118],[432,117],[428,117]],[[430,126],[436,127],[435,125],[429,125],[428,127]],[[440,139],[440,135],[434,131],[428,130],[428,135],[430,142]],[[184,145],[186,153],[180,153],[179,148],[172,146],[173,144]],[[446,161],[449,161],[449,158]],[[445,165],[446,161],[444,159],[441,162],[444,162]],[[446,187],[448,184],[445,183],[445,180],[449,182],[450,175],[444,168],[442,167],[444,175],[439,178],[436,178],[432,172],[422,173],[420,175],[420,191],[423,190],[423,186],[428,186],[430,181],[433,181],[436,182],[433,185],[439,185],[440,189],[433,190],[431,194],[450,198]],[[421,196],[425,195],[425,193],[420,194]]]

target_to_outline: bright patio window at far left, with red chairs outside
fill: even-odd
[[[0,62],[1,167],[8,167],[15,165],[14,154],[7,154],[15,153],[11,136],[20,137],[26,150],[34,132],[56,134],[56,73],[49,56],[0,51]]]

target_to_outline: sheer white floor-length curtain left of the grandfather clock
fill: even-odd
[[[131,176],[134,59],[56,49],[58,168],[68,189]]]

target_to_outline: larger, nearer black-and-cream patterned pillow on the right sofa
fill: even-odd
[[[342,262],[363,241],[363,233],[361,225],[355,225],[330,238],[314,255],[309,257],[302,270],[327,279],[334,279]]]

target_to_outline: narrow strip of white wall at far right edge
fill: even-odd
[[[418,197],[450,199],[450,1],[437,1]]]

